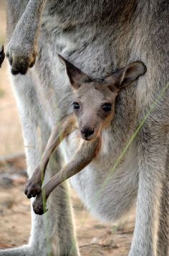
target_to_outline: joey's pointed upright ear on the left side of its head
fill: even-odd
[[[72,87],[77,90],[82,85],[82,83],[86,81],[90,81],[90,78],[84,74],[79,68],[76,68],[72,63],[69,63],[65,60],[61,55],[58,55],[59,60],[65,65],[67,69],[67,76],[69,77],[69,81]]]

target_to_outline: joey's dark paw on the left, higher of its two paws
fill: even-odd
[[[27,196],[27,198],[35,197],[40,193],[41,187],[41,181],[36,182],[34,176],[32,176],[32,178],[29,178],[29,180],[26,183],[24,193]]]

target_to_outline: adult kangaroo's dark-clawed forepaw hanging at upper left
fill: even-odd
[[[24,75],[29,68],[33,67],[37,57],[37,50],[34,50],[32,45],[16,44],[11,39],[7,48],[6,57],[9,59],[11,65],[11,73],[13,75],[19,73]]]

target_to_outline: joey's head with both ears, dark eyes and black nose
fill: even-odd
[[[100,136],[102,129],[112,122],[118,92],[139,76],[143,76],[146,67],[142,62],[136,61],[100,82],[92,81],[79,68],[64,60],[61,55],[58,56],[66,67],[74,91],[72,104],[80,136],[84,140],[95,140]]]

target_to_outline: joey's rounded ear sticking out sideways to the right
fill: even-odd
[[[133,81],[137,80],[139,76],[143,76],[147,71],[144,63],[135,61],[130,63],[125,68],[117,70],[112,76],[108,76],[105,81],[110,83],[111,91],[120,91],[121,88],[130,85]]]

